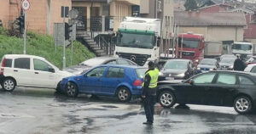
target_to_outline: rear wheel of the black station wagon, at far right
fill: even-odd
[[[233,103],[234,109],[239,114],[247,114],[252,111],[253,103],[246,96],[237,97]]]

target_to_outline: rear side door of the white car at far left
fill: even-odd
[[[31,70],[30,58],[15,59],[13,76],[18,86],[30,86],[33,82],[33,71]]]

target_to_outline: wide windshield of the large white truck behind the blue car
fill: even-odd
[[[142,35],[135,33],[122,33],[118,36],[117,46],[119,47],[139,47],[139,48],[153,48],[154,35]]]

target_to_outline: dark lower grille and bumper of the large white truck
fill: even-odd
[[[116,53],[116,54],[119,55],[120,58],[130,59],[131,61],[141,66],[143,66],[146,63],[147,59],[151,57],[148,54],[135,54],[135,53]]]

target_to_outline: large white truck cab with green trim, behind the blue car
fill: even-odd
[[[114,56],[144,66],[160,59],[160,20],[125,17],[120,23]]]

